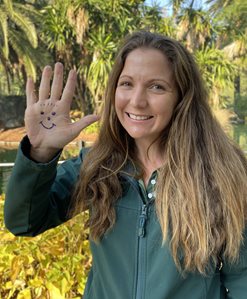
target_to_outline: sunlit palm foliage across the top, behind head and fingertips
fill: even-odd
[[[144,0],[0,1],[0,90],[24,92],[26,74],[39,77],[52,57],[63,62],[65,78],[77,70],[76,108],[97,112],[119,42],[148,29],[195,54],[219,108],[222,89],[234,81],[231,64],[246,69],[246,1],[207,2],[174,0],[162,8]]]

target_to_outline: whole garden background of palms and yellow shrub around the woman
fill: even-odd
[[[27,77],[38,87],[46,64],[62,62],[65,78],[76,69],[76,120],[100,110],[120,40],[139,29],[162,33],[193,53],[213,112],[247,154],[246,13],[246,0],[0,0],[0,298],[80,298],[91,264],[88,233],[81,233],[87,215],[31,240],[4,229],[4,192],[18,146],[11,134],[24,134]],[[85,134],[97,131],[93,125]]]

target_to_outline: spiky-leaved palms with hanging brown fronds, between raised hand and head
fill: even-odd
[[[66,72],[76,68],[77,105],[90,113],[98,110],[117,44],[127,33],[150,22],[155,9],[144,0],[56,0],[43,9],[42,40]],[[158,26],[158,25],[157,25]]]

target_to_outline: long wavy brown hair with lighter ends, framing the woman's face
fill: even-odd
[[[160,136],[166,159],[158,170],[155,205],[163,241],[169,233],[178,268],[205,273],[220,253],[231,262],[238,257],[247,219],[247,161],[214,118],[192,55],[171,38],[141,31],[122,44],[109,77],[99,137],[76,185],[73,214],[90,209],[88,226],[95,241],[116,221],[119,173],[127,161],[138,160],[134,141],[115,112],[115,90],[126,57],[142,47],[158,49],[169,59],[179,95]]]

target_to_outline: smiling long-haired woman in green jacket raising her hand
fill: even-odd
[[[70,123],[75,72],[63,93],[62,77],[56,64],[50,91],[46,67],[38,97],[27,83],[7,228],[34,236],[89,209],[84,299],[246,298],[247,162],[212,116],[191,54],[158,34],[130,35],[97,142],[57,169],[61,149],[97,120]]]

